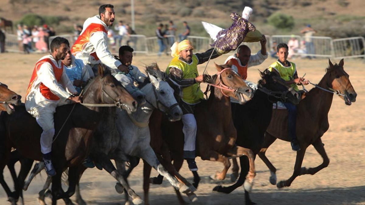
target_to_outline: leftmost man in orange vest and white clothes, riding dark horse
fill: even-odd
[[[52,40],[50,45],[52,53],[42,57],[35,64],[26,93],[25,108],[43,129],[41,152],[49,176],[56,174],[51,162],[54,136],[53,114],[56,107],[65,104],[66,100],[80,102],[79,97],[73,96],[77,94],[77,91],[70,82],[62,63],[69,46],[65,38],[56,37]]]

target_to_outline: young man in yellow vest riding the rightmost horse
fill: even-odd
[[[285,43],[280,43],[277,46],[277,56],[279,59],[269,66],[269,70],[278,73],[289,86],[294,90],[299,91],[297,85],[308,85],[309,81],[298,77],[295,64],[287,61],[289,54],[288,50],[288,45]],[[290,102],[283,102],[283,104],[288,109],[288,130],[289,137],[291,138],[292,150],[299,151],[300,147],[295,133],[297,115],[296,105],[293,105]]]

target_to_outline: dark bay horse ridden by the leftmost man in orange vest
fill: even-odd
[[[91,138],[97,124],[104,115],[109,114],[112,117],[112,113],[104,112],[111,108],[99,107],[100,104],[118,106],[127,112],[134,112],[137,109],[137,102],[110,73],[105,72],[101,66],[98,73],[99,76],[93,78],[85,87],[83,105],[63,105],[56,109],[54,115],[56,137],[52,146],[52,158],[57,174],[52,178],[52,204],[56,204],[60,198],[72,196],[79,177],[76,168],[90,152]],[[2,176],[11,147],[16,148],[23,157],[31,159],[27,165],[22,164],[16,186],[19,189],[31,169],[32,160],[42,160],[39,143],[42,129],[35,118],[25,111],[24,106],[15,108],[17,112],[1,117],[6,129],[5,135],[1,135],[0,139],[6,146],[5,154],[0,156],[2,162],[0,170]],[[116,108],[114,112],[115,110]],[[61,187],[61,176],[67,167],[69,167],[69,189],[65,193]],[[125,185],[127,186],[127,183]],[[21,192],[21,189],[16,191]],[[7,192],[7,194],[11,196],[12,193]],[[15,204],[16,199],[9,197],[9,200]]]

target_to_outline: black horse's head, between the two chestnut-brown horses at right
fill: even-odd
[[[277,73],[265,69],[264,72],[260,71],[260,76],[261,80],[258,81],[257,86],[259,89],[264,89],[263,91],[269,96],[274,97],[273,102],[280,100],[283,102],[289,101],[294,105],[299,104],[300,95]]]

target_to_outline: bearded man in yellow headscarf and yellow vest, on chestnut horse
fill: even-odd
[[[204,53],[193,54],[194,47],[189,40],[180,43],[175,42],[171,47],[173,59],[169,63],[166,73],[177,84],[183,87],[183,98],[180,108],[183,110],[184,127],[184,158],[188,162],[191,171],[198,170],[195,163],[195,139],[196,139],[196,120],[194,117],[194,107],[203,99],[203,92],[200,90],[200,82],[205,81],[205,75],[199,75],[197,65],[208,61],[211,53],[213,58],[219,56],[214,49],[209,49]],[[213,51],[214,50],[214,51]],[[204,79],[204,80],[203,80]]]

